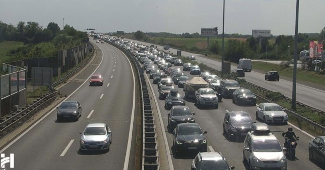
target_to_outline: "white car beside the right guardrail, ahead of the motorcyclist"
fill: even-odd
[[[288,115],[276,103],[260,103],[256,108],[256,119],[265,123],[288,123]]]

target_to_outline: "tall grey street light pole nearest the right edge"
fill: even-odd
[[[299,0],[296,2],[296,26],[294,32],[294,51],[293,51],[293,79],[292,79],[292,105],[296,111],[296,88],[297,88],[297,53],[298,53],[298,21],[299,21]]]

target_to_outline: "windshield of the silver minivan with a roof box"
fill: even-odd
[[[278,140],[253,140],[254,152],[282,152]]]

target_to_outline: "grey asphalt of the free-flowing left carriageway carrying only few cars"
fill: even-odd
[[[57,122],[57,109],[53,109],[1,149],[1,153],[15,154],[15,169],[134,169],[136,73],[118,49],[107,43],[95,47],[97,56],[89,67],[59,90],[68,96],[65,100],[81,103],[79,121]],[[102,74],[103,86],[89,86],[93,73]],[[106,123],[111,128],[109,152],[79,151],[79,132],[89,123]]]

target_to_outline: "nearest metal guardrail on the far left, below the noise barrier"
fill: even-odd
[[[0,120],[0,134],[2,135],[6,130],[9,130],[10,128],[14,127],[16,124],[21,122],[24,118],[26,118],[28,115],[33,114],[35,111],[37,111],[41,106],[48,103],[49,101],[54,100],[57,97],[57,91],[53,91],[51,93],[48,93],[46,95],[43,95],[42,98],[38,98],[37,101],[34,101],[34,103],[26,108],[23,108],[23,110],[18,110],[15,113],[12,113],[11,116],[7,115],[6,119]]]

